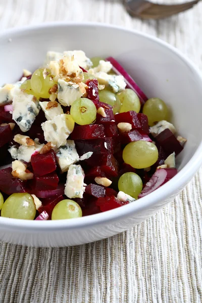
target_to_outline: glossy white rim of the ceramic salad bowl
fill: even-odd
[[[137,36],[143,36],[155,43],[161,44],[161,46],[170,49],[175,55],[186,64],[190,71],[200,80],[202,87],[202,77],[198,68],[188,59],[186,58],[177,48],[170,45],[169,43],[149,34],[134,30],[124,28],[122,26],[107,24],[107,23],[96,23],[96,22],[48,22],[42,23],[39,25],[29,25],[25,27],[17,27],[12,29],[7,29],[1,32],[0,38],[4,36],[8,36],[9,34],[21,34],[23,32],[31,32],[33,30],[39,30],[41,28],[52,28],[52,27],[71,27],[71,26],[89,26],[89,27],[101,27],[101,28],[112,28],[115,30],[120,30],[123,32],[130,32],[131,34]],[[186,183],[193,177],[196,171],[202,164],[202,140],[196,148],[191,159],[186,163],[186,165],[174,176],[170,181],[168,181],[164,186],[156,189],[154,192],[149,193],[148,195],[142,197],[137,200],[135,203],[130,203],[122,206],[121,208],[113,209],[107,212],[98,213],[86,217],[81,217],[77,219],[64,219],[64,220],[49,220],[45,223],[43,221],[35,220],[19,220],[19,219],[11,219],[0,217],[0,226],[3,229],[13,230],[14,228],[17,230],[24,230],[31,232],[39,232],[39,231],[58,231],[64,229],[81,229],[83,227],[90,228],[94,224],[102,225],[110,223],[111,221],[118,221],[120,219],[124,219],[125,217],[129,217],[134,213],[140,213],[147,209],[147,207],[151,207],[155,209],[155,206],[160,203],[160,201],[165,200],[169,196],[171,196],[174,192],[177,192],[181,189]],[[142,220],[143,221],[143,220]]]

